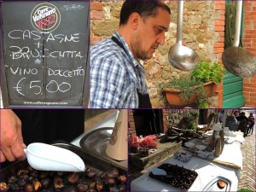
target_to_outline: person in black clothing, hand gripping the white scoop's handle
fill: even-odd
[[[84,133],[82,109],[0,109],[0,120],[1,162],[25,160],[30,143],[71,142]]]

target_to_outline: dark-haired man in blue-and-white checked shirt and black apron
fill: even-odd
[[[90,108],[152,108],[139,60],[165,42],[171,10],[160,1],[125,1],[118,32],[90,50]]]

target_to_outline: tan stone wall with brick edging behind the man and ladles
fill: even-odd
[[[90,6],[90,44],[112,36],[119,26],[122,1],[93,1]],[[148,92],[153,108],[168,107],[160,83],[179,78],[188,72],[172,67],[168,51],[176,43],[177,1],[165,1],[171,8],[171,25],[166,32],[166,42],[156,50],[154,57],[144,61]],[[224,51],[224,0],[185,1],[183,15],[183,45],[194,49],[201,60],[221,61]],[[209,99],[210,108],[222,107],[223,87],[218,86],[218,96]]]

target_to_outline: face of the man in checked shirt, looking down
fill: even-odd
[[[140,18],[136,34],[131,38],[131,49],[137,59],[152,58],[159,44],[165,43],[165,32],[170,25],[170,15],[165,9],[158,8],[157,15]]]

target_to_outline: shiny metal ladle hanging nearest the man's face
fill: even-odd
[[[169,50],[168,59],[173,67],[189,71],[196,67],[199,56],[194,50],[182,45],[183,3],[183,0],[180,0],[177,4],[177,40]]]

